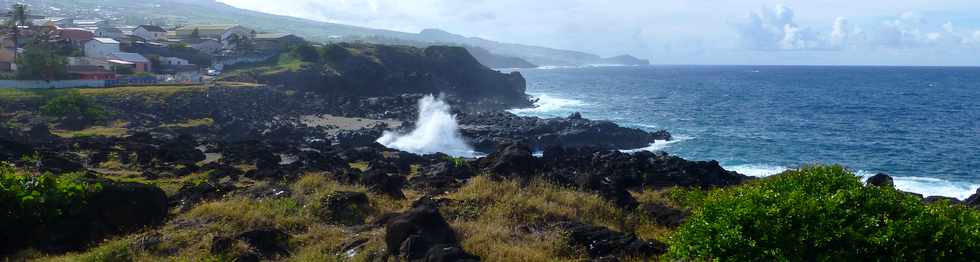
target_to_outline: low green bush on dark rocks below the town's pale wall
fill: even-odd
[[[102,106],[78,90],[71,90],[48,100],[41,107],[41,113],[51,117],[81,117],[91,121],[100,121],[108,117]]]

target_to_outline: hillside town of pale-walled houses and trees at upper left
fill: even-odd
[[[200,84],[226,66],[267,60],[306,43],[292,34],[237,24],[127,24],[36,15],[23,4],[12,5],[3,16],[3,87]]]

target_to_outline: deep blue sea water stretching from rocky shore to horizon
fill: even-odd
[[[900,189],[966,198],[980,187],[980,68],[650,66],[521,70],[538,107],[677,138],[688,159],[767,176],[806,164],[887,173]]]

